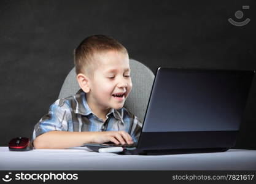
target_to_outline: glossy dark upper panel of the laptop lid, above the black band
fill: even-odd
[[[254,71],[158,69],[143,132],[236,131]]]

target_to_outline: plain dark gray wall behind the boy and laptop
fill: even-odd
[[[249,5],[249,10],[242,10]],[[248,25],[228,23],[242,10]],[[85,37],[107,34],[158,66],[256,69],[256,1],[0,1],[0,146],[31,137]],[[236,148],[256,149],[256,80]]]

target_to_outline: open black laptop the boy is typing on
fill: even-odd
[[[134,155],[226,151],[235,146],[254,73],[159,67],[138,144],[84,146]]]

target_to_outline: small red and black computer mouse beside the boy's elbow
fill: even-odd
[[[9,142],[10,151],[30,151],[33,150],[33,145],[26,137],[16,137]]]

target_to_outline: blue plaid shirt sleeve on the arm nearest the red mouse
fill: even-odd
[[[49,131],[68,131],[68,113],[69,108],[64,105],[59,105],[60,99],[55,101],[41,120],[34,126],[31,142],[41,134]]]

